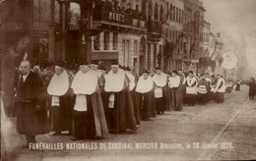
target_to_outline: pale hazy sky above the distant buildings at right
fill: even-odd
[[[202,0],[205,20],[225,42],[240,42],[244,36],[249,66],[256,70],[256,0]]]

